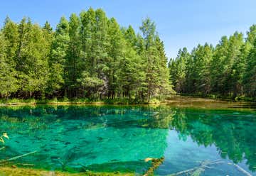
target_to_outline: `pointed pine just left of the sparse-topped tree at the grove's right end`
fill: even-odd
[[[142,60],[144,40],[141,35],[136,35],[132,26],[123,31],[125,42],[124,58],[120,61],[119,85],[122,87],[123,96],[129,99],[142,99],[145,91],[145,71]]]

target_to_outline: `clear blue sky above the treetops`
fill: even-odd
[[[121,26],[131,24],[136,31],[149,16],[156,22],[168,57],[175,57],[179,48],[192,50],[198,43],[215,45],[221,36],[246,33],[256,23],[255,0],[10,0],[1,1],[0,21],[2,26],[7,15],[17,22],[29,16],[35,23],[48,20],[55,27],[61,16],[90,6],[104,9]]]

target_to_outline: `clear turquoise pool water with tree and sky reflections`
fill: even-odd
[[[256,175],[256,111],[173,106],[21,106],[0,108],[7,132],[0,158],[38,150],[14,161],[68,172],[143,174],[164,157],[155,175],[219,162],[201,175]]]

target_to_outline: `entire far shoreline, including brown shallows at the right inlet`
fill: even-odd
[[[102,101],[88,101],[87,99],[80,99],[78,101],[58,101],[57,99],[47,99],[47,100],[36,100],[36,99],[0,99],[0,106],[39,106],[39,105],[52,105],[52,106],[68,106],[68,105],[119,105],[119,106],[147,106],[147,105],[161,105],[161,104],[188,104],[188,103],[198,103],[198,102],[210,102],[210,103],[222,103],[222,104],[256,104],[256,101],[235,101],[234,99],[220,98],[220,97],[206,97],[200,95],[174,95],[169,99],[164,101],[159,101],[154,99],[149,102],[138,102],[129,101],[127,99],[105,99]]]

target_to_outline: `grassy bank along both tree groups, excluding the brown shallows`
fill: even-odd
[[[221,96],[218,94],[177,94],[166,100],[151,99],[148,101],[139,101],[136,99],[0,99],[0,106],[9,105],[76,105],[76,104],[92,104],[92,105],[103,105],[103,104],[120,104],[120,105],[138,105],[138,104],[165,104],[176,99],[179,101],[186,101],[188,98],[205,98],[215,99],[223,101],[237,101],[237,102],[256,102],[256,98],[252,97],[233,97]]]

